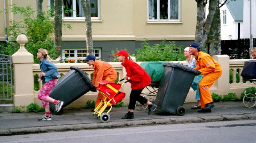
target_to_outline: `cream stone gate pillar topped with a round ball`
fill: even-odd
[[[12,55],[14,64],[14,87],[15,94],[13,103],[15,106],[26,106],[34,103],[34,77],[33,77],[33,55],[25,49],[28,41],[23,34],[17,36],[20,49]]]

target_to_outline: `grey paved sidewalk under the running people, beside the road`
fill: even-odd
[[[93,116],[90,109],[65,110],[61,116],[52,115],[52,121],[38,121],[44,112],[39,113],[0,113],[0,136],[42,132],[61,132],[81,129],[103,129],[127,126],[144,126],[152,124],[198,123],[231,120],[255,120],[256,107],[246,108],[242,102],[215,103],[211,113],[198,113],[191,107],[195,104],[184,104],[185,115],[177,116],[157,109],[152,115],[147,110],[135,109],[134,119],[122,120],[128,112],[127,107],[113,108],[109,112],[111,119],[102,123]]]

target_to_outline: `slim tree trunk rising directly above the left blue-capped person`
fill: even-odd
[[[81,0],[84,10],[85,32],[86,32],[86,48],[87,55],[93,55],[93,38],[92,38],[92,22],[90,14],[90,0]]]

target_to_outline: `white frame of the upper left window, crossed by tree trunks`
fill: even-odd
[[[76,0],[72,1],[73,3]],[[51,8],[51,0],[48,0],[49,9]],[[92,20],[100,20],[100,0],[97,0],[97,7],[98,7],[98,17],[91,17]],[[73,17],[64,17],[64,13],[62,13],[63,20],[85,20],[84,17],[76,17],[76,5],[73,4]]]

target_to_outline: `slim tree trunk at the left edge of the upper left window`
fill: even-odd
[[[62,5],[63,0],[54,0],[54,41],[57,46],[58,54],[61,54],[62,43]]]

